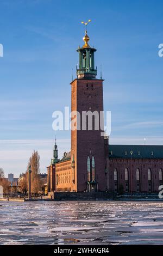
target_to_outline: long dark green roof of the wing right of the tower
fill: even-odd
[[[110,145],[110,158],[163,159],[163,145]]]

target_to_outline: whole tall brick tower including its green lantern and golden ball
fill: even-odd
[[[104,121],[103,114],[100,115],[103,111],[103,80],[96,78],[96,49],[88,44],[87,31],[83,40],[85,44],[77,50],[77,78],[71,82],[71,111],[80,114],[72,115],[72,120],[76,119],[71,130],[73,188],[76,192],[105,191]],[[91,114],[92,129],[89,126]]]

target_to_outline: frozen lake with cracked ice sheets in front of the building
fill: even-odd
[[[0,245],[163,245],[163,202],[3,202]]]

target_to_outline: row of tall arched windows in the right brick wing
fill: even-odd
[[[118,175],[118,172],[117,172],[117,169],[115,168],[114,169],[114,180],[115,181],[117,181],[117,175]],[[125,168],[124,177],[125,177],[125,181],[128,181],[128,168]],[[152,171],[151,171],[151,168],[149,168],[148,169],[148,181],[151,181],[151,179],[152,179]],[[136,169],[136,180],[140,181],[139,168]],[[159,169],[159,180],[162,181],[162,169],[161,168]]]

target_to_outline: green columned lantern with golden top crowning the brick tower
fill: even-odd
[[[87,22],[82,22],[82,24],[87,27],[87,24],[91,20]],[[95,69],[95,57],[94,53],[96,52],[95,48],[92,48],[89,45],[89,36],[87,35],[87,28],[85,28],[85,36],[83,38],[85,44],[82,48],[78,48],[77,52],[79,53],[79,68],[77,69],[77,77],[80,78],[96,78],[97,69]]]

